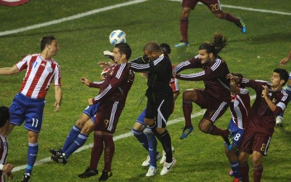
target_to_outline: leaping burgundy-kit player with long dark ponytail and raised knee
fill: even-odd
[[[199,129],[208,134],[222,136],[228,150],[232,149],[232,138],[228,130],[222,130],[214,125],[221,117],[230,103],[229,74],[226,62],[218,53],[227,45],[226,38],[221,33],[215,33],[211,43],[203,43],[199,46],[199,55],[180,63],[174,69],[174,77],[188,81],[203,81],[205,89],[187,89],[183,92],[183,113],[186,121],[184,132],[191,123],[192,102],[201,108],[206,108],[203,118],[199,122]],[[189,68],[202,68],[203,71],[193,74],[176,75],[180,71]],[[182,133],[183,134],[185,133]],[[188,135],[190,132],[187,132]],[[182,137],[181,136],[181,137]]]

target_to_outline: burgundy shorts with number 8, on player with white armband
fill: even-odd
[[[252,154],[257,151],[262,155],[267,155],[272,135],[246,129],[243,133],[239,151]]]

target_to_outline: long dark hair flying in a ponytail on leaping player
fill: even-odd
[[[213,53],[215,56],[227,46],[227,38],[222,33],[217,32],[213,35],[212,42],[206,42],[199,46],[198,50],[206,50],[207,53]]]

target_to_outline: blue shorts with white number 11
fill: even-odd
[[[45,99],[32,99],[18,93],[9,107],[10,123],[20,126],[25,121],[24,128],[40,132],[45,103]]]

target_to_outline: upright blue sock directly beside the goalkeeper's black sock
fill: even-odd
[[[151,129],[149,129],[149,130],[145,129],[145,133],[146,133],[146,136],[147,136],[148,141],[149,141],[149,154],[150,154],[151,165],[156,167],[156,155],[157,155],[156,138],[154,136],[154,133],[151,131]]]

